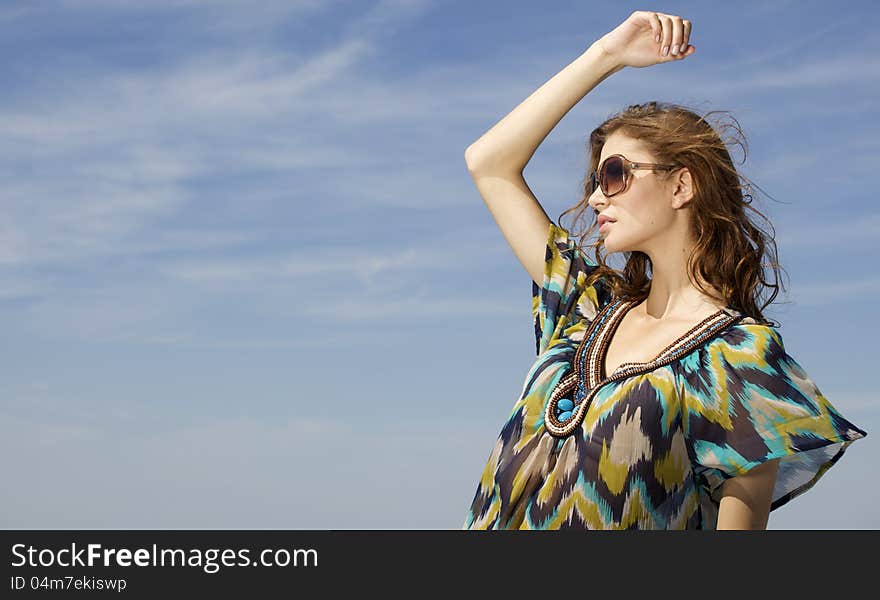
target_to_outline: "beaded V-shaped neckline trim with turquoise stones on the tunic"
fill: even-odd
[[[590,323],[572,361],[573,369],[557,383],[544,411],[544,425],[551,434],[565,437],[580,426],[589,404],[606,383],[669,364],[715,336],[736,321],[754,322],[731,308],[722,308],[706,317],[648,362],[625,362],[609,376],[604,376],[605,353],[611,336],[623,316],[641,299],[607,304]]]

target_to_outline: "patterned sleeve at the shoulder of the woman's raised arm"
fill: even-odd
[[[604,279],[586,285],[587,277],[597,268],[596,263],[576,247],[567,230],[550,223],[541,287],[532,282],[532,318],[538,354],[559,339],[568,327],[591,321],[611,300]]]

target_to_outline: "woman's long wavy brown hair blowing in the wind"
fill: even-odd
[[[589,173],[598,168],[602,146],[615,131],[639,140],[654,155],[653,162],[687,167],[691,173],[694,195],[691,198],[691,233],[696,240],[694,251],[688,259],[688,273],[692,282],[706,295],[715,298],[753,317],[758,323],[779,327],[779,324],[764,318],[761,310],[773,302],[779,293],[780,265],[776,260],[776,241],[773,225],[763,213],[751,206],[751,181],[741,175],[733,164],[727,146],[716,129],[708,122],[708,117],[727,111],[709,111],[704,116],[679,105],[665,102],[647,102],[627,107],[612,115],[590,134],[590,169],[584,179],[583,195],[573,207],[560,214],[557,222],[562,226],[562,217],[574,213],[574,221],[581,220],[586,213],[592,216],[585,231],[571,229],[572,237],[586,239],[596,229],[596,212],[587,200]],[[719,130],[733,130],[733,143],[743,150],[743,162],[747,153],[745,135],[739,122],[731,118],[731,123],[718,121]],[[670,176],[670,173],[656,171]],[[758,187],[755,185],[755,187]],[[760,189],[760,187],[758,187]],[[755,225],[747,214],[751,211],[760,216],[770,226],[771,233]],[[584,248],[578,244],[578,248]],[[622,271],[609,267],[601,251],[601,240],[586,246],[599,268],[588,280],[592,285],[604,278],[615,297],[632,299],[646,298],[651,289],[648,267],[651,260],[639,251],[624,252],[626,265]],[[769,254],[769,266],[776,282],[765,279],[764,257]],[[701,280],[719,290],[723,297],[706,290]],[[770,289],[769,298],[758,307],[760,294]]]

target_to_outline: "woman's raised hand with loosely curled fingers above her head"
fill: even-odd
[[[688,44],[690,36],[691,22],[686,19],[637,10],[599,38],[598,43],[624,67],[649,67],[681,60],[696,52],[697,49]]]

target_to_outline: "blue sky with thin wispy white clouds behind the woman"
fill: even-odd
[[[730,110],[766,314],[869,432],[769,527],[880,526],[876,5],[583,0],[0,5],[0,526],[460,527],[535,358],[464,150],[637,9],[696,54],[605,80],[529,186],[556,219],[628,104]]]

